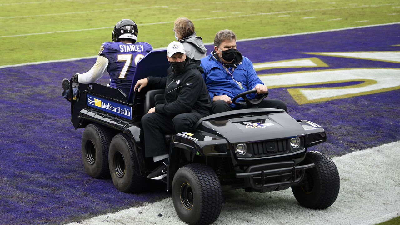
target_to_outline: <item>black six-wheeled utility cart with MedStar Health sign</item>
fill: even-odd
[[[71,121],[75,129],[84,128],[82,159],[88,175],[111,177],[123,192],[146,189],[156,165],[144,157],[140,119],[164,103],[164,90],[132,89],[139,79],[166,76],[168,66],[165,50],[147,54],[137,64],[129,96],[102,84],[79,84]],[[252,92],[233,99],[243,96],[246,109],[204,117],[190,133],[165,134],[170,162],[161,181],[172,192],[182,221],[213,223],[221,212],[222,191],[232,189],[265,193],[291,187],[300,205],[311,209],[325,209],[336,200],[340,180],[335,164],[324,153],[307,151],[326,141],[324,129],[283,110],[257,108],[265,96],[247,99]]]

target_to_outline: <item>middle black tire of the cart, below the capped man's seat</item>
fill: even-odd
[[[136,160],[135,146],[124,133],[115,135],[110,143],[108,163],[114,186],[125,193],[139,193],[146,185],[145,178],[137,174],[139,165]]]

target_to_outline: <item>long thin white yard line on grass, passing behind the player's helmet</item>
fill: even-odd
[[[364,8],[364,7],[376,7],[376,6],[388,6],[388,5],[398,5],[400,3],[393,4],[380,4],[380,5],[369,5],[369,6],[355,6],[355,7],[341,7],[341,8],[322,8],[322,9],[307,9],[307,10],[292,10],[292,11],[281,11],[281,12],[266,12],[266,13],[256,13],[256,14],[248,14],[248,15],[237,15],[237,16],[221,16],[221,17],[212,17],[212,18],[201,18],[194,19],[192,21],[200,21],[200,20],[215,20],[215,19],[225,19],[225,18],[233,18],[233,17],[244,17],[244,16],[261,16],[261,15],[274,15],[281,13],[291,13],[291,12],[310,12],[310,11],[321,11],[321,10],[340,10],[344,8]],[[154,24],[166,24],[173,23],[175,21],[166,21],[166,22],[155,22],[155,23],[147,23],[147,24],[138,24],[138,26],[143,25],[154,25]],[[16,34],[16,35],[7,35],[0,36],[0,38],[8,38],[8,37],[18,37],[18,36],[29,36],[29,35],[39,35],[39,34],[54,34],[54,33],[63,33],[63,32],[76,32],[76,31],[84,31],[84,30],[100,30],[100,29],[109,29],[110,27],[100,27],[100,28],[87,28],[87,29],[79,29],[79,30],[60,30],[60,31],[52,31],[52,32],[41,32],[41,33],[32,33],[32,34]],[[111,27],[112,28],[112,27]]]

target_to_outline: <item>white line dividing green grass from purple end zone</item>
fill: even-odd
[[[333,32],[333,31],[340,31],[340,30],[352,30],[352,29],[368,28],[368,27],[374,27],[374,26],[387,26],[387,25],[393,25],[393,24],[400,24],[400,22],[387,23],[387,24],[366,25],[366,26],[355,26],[355,27],[338,28],[338,29],[331,29],[331,30],[320,30],[320,31],[304,32],[304,33],[297,33],[297,34],[283,34],[283,35],[275,35],[275,36],[259,37],[259,38],[246,38],[246,39],[236,40],[236,42],[242,42],[242,41],[248,41],[248,40],[261,40],[261,39],[269,39],[269,38],[280,38],[280,37],[297,36],[297,35],[305,35],[305,34],[319,34],[319,33],[324,33],[324,32]],[[214,42],[204,43],[204,45],[210,45],[210,44],[214,44]],[[154,50],[161,50],[161,49],[166,49],[166,48],[154,48]],[[27,63],[21,63],[21,64],[0,66],[0,69],[7,68],[7,67],[15,67],[15,66],[35,65],[35,64],[42,64],[42,63],[49,63],[49,62],[68,62],[68,61],[73,61],[73,60],[80,60],[80,59],[86,59],[86,58],[96,58],[96,57],[97,57],[97,55],[96,56],[80,57],[80,58],[61,59],[61,60],[49,60],[49,61],[41,61],[41,62],[27,62]]]

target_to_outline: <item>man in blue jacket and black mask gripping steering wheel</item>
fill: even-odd
[[[212,113],[240,109],[232,98],[244,91],[256,89],[257,94],[268,92],[258,78],[253,63],[236,50],[236,34],[232,30],[220,30],[214,38],[214,51],[202,58],[202,73],[212,100]],[[256,94],[250,98],[254,98]],[[238,99],[243,102],[243,98]],[[280,108],[286,111],[281,100],[264,99],[258,108]]]

